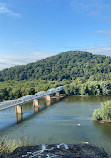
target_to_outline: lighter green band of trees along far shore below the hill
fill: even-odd
[[[5,81],[0,84],[0,101],[17,99],[24,95],[33,95],[39,91],[66,85],[66,95],[111,95],[111,81],[86,81],[77,78],[75,81]]]

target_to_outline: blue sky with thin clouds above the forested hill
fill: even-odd
[[[0,0],[0,70],[70,50],[111,56],[111,0]]]

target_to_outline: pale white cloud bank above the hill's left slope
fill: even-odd
[[[37,60],[44,59],[52,55],[54,54],[45,52],[34,52],[24,56],[0,55],[0,70],[15,65],[25,65],[31,62],[36,62]]]

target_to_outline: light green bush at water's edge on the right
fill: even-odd
[[[111,101],[101,103],[101,109],[96,109],[93,113],[95,120],[111,120]]]

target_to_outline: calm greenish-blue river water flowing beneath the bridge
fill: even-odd
[[[0,112],[0,138],[26,139],[27,145],[84,143],[111,153],[111,123],[91,120],[93,111],[111,97],[70,96],[51,106],[41,100],[42,110],[33,112],[32,102],[23,105],[23,121],[16,123],[14,108]]]

